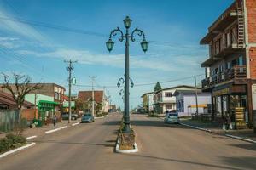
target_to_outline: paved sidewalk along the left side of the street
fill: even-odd
[[[67,120],[62,120],[62,122],[57,122],[56,126],[54,127],[53,124],[48,124],[48,125],[44,125],[43,127],[36,127],[36,128],[26,128],[23,132],[22,135],[24,137],[30,137],[30,136],[43,136],[45,134],[46,131],[58,128],[58,127],[64,127],[67,125],[71,125],[72,123],[75,122],[80,122],[80,119],[76,120],[76,121],[71,121],[71,123],[68,124]],[[0,134],[0,139],[4,138],[5,135],[7,133],[1,133]]]

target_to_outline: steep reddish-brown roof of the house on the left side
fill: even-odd
[[[103,101],[103,91],[95,90],[94,91],[94,99],[97,103],[102,103]],[[79,99],[87,101],[92,98],[92,91],[79,91]]]

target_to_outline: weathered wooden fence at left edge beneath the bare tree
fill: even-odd
[[[0,110],[0,133],[7,133],[12,131],[19,125],[19,111],[18,110]],[[21,126],[26,126],[26,119],[21,119]]]

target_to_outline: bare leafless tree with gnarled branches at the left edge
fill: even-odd
[[[32,78],[29,76],[13,73],[12,77],[13,82],[11,82],[11,77],[9,75],[3,73],[4,83],[2,88],[6,88],[9,93],[12,94],[17,108],[21,110],[21,107],[25,102],[25,95],[41,87],[39,83],[32,83]]]

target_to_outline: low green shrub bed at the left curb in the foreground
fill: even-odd
[[[0,139],[0,153],[20,147],[20,145],[26,144],[26,138],[21,135],[15,135],[9,133],[5,138]]]

